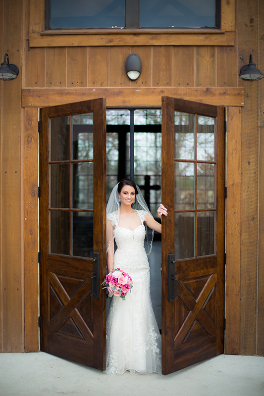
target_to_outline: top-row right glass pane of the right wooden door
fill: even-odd
[[[200,161],[214,160],[215,118],[197,116],[197,159]]]

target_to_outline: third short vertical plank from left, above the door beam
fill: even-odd
[[[87,87],[87,47],[67,49],[67,87]]]

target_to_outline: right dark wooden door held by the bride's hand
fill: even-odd
[[[189,151],[181,151],[176,142],[186,137]],[[177,179],[178,169],[187,171]],[[181,186],[186,195],[176,191]],[[162,202],[168,208],[162,219],[162,373],[168,374],[223,352],[223,108],[162,98]],[[168,298],[168,262],[175,263],[174,300],[171,292]]]

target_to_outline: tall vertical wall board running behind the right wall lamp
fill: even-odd
[[[258,2],[240,1],[238,54],[258,63]],[[245,46],[247,43],[247,46]],[[257,339],[259,84],[242,81],[245,106],[241,127],[241,303],[240,354],[254,355]]]

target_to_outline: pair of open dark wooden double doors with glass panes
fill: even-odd
[[[224,109],[163,97],[161,110],[169,374],[223,353]],[[41,349],[104,370],[106,99],[41,109],[40,186]]]

